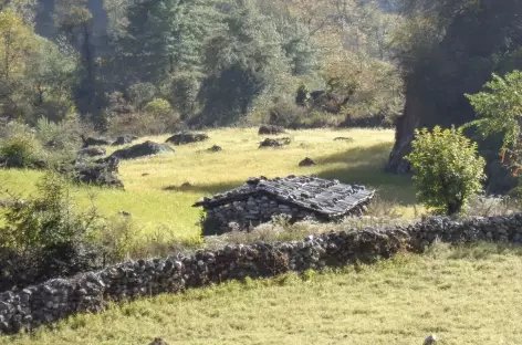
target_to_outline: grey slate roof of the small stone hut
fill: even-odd
[[[343,185],[337,180],[327,180],[315,176],[289,176],[267,179],[250,178],[243,186],[211,198],[203,198],[192,207],[207,209],[244,200],[254,195],[267,195],[272,199],[295,205],[327,217],[340,217],[354,207],[370,200],[375,190],[364,186]]]

